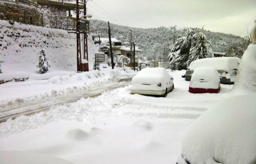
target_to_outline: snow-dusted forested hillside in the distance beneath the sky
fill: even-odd
[[[101,20],[91,20],[91,27],[101,27],[107,28],[107,22]],[[158,28],[133,28],[128,26],[120,26],[111,24],[113,27],[112,35],[120,40],[130,39],[129,29],[132,29],[133,40],[140,46],[142,50],[144,50],[143,54],[152,54],[147,51],[158,51],[163,52],[163,48],[165,45],[166,54],[168,54],[168,48],[173,44],[173,39],[177,38],[180,34],[182,36],[185,35],[187,30],[186,27],[179,28],[177,26],[174,27],[158,27]],[[196,33],[201,32],[200,28],[195,28]],[[205,36],[212,43],[212,50],[216,52],[225,52],[230,44],[241,42],[242,38],[239,36],[235,36],[232,34],[224,34],[220,32],[210,32],[205,30]],[[107,37],[107,33],[100,33],[103,37]],[[175,37],[174,37],[175,36]]]

